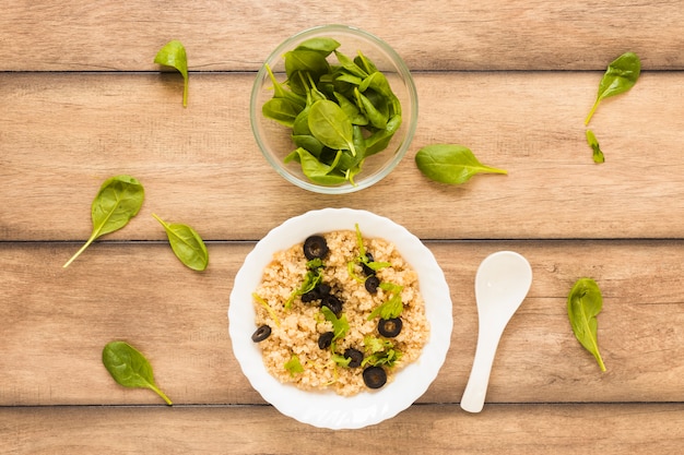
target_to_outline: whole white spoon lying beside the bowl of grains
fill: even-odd
[[[532,267],[520,254],[499,251],[485,258],[475,276],[477,347],[461,408],[480,412],[498,342],[508,321],[524,300],[532,284]]]

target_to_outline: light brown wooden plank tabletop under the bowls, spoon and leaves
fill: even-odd
[[[249,125],[263,59],[330,22],[389,43],[420,97],[406,157],[345,196],[287,183]],[[180,76],[153,63],[170,39],[188,52],[185,109]],[[681,453],[684,2],[8,0],[0,43],[1,453]],[[597,165],[583,119],[625,51],[641,57],[642,75],[592,119],[606,156]],[[413,156],[438,142],[509,173],[432,182]],[[97,188],[118,173],[144,184],[140,214],[62,268],[90,235]],[[227,332],[233,279],[255,242],[322,207],[405,226],[453,301],[435,382],[362,430],[320,430],[267,406]],[[153,212],[208,241],[204,273],[176,260]],[[459,400],[476,342],[473,279],[503,249],[529,259],[534,283],[471,415]],[[604,297],[605,373],[568,323],[582,276]],[[113,381],[101,362],[113,339],[146,355],[173,407]]]

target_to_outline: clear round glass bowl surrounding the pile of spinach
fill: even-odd
[[[375,64],[389,82],[401,105],[401,125],[392,135],[385,149],[367,156],[361,171],[352,181],[322,184],[311,181],[297,161],[284,163],[284,159],[297,148],[292,140],[292,128],[287,128],[271,118],[264,117],[263,105],[273,98],[273,82],[268,72],[271,69],[279,83],[286,77],[284,53],[294,50],[299,44],[310,38],[332,38],[340,43],[337,49],[350,59],[361,51]],[[335,55],[327,58],[331,65],[339,65]],[[285,85],[286,87],[286,85]],[[251,100],[250,121],[255,139],[269,164],[287,181],[305,190],[326,194],[344,194],[363,190],[385,178],[403,158],[411,144],[417,123],[417,94],[413,77],[399,55],[378,37],[358,28],[345,25],[323,25],[300,32],[283,41],[264,61],[257,73]],[[367,136],[370,132],[366,131]]]

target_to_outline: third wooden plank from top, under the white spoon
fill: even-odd
[[[109,378],[101,352],[113,339],[141,349],[177,404],[263,403],[227,334],[233,278],[251,246],[211,243],[210,266],[198,274],[162,242],[94,244],[67,270],[61,265],[76,246],[0,242],[0,406],[160,403],[152,392]],[[455,328],[447,361],[420,403],[460,400],[476,342],[474,274],[487,254],[504,249],[529,259],[534,283],[500,343],[488,403],[682,400],[682,241],[427,246],[450,286]],[[606,373],[567,320],[567,294],[582,276],[603,291]]]

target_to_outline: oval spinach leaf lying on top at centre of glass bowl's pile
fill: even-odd
[[[321,99],[314,103],[308,121],[311,134],[323,145],[351,151],[352,155],[356,155],[352,121],[334,101]]]

